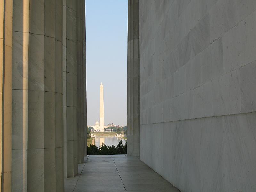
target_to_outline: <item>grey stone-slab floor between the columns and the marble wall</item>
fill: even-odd
[[[90,155],[78,169],[78,176],[65,179],[65,192],[179,192],[139,157]]]

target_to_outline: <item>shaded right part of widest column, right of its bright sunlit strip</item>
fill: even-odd
[[[63,191],[62,1],[31,0],[29,32],[28,191]]]

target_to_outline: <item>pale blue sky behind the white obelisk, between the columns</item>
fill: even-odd
[[[127,124],[128,0],[86,0],[87,124],[99,121],[100,83],[105,125]]]

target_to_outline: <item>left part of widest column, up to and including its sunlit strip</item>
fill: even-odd
[[[29,0],[13,0],[12,191],[27,191]]]

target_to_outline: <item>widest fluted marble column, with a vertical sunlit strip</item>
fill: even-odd
[[[64,190],[62,0],[13,1],[12,191]]]

